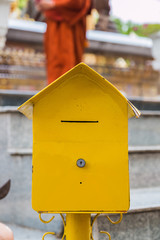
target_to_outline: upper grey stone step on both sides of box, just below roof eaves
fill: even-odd
[[[17,107],[0,107],[0,121],[8,121],[8,148],[32,148],[32,121]],[[160,145],[160,111],[143,111],[139,119],[129,119],[129,146]]]

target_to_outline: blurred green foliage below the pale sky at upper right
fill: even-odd
[[[160,24],[135,24],[131,21],[123,22],[120,19],[113,19],[117,30],[122,34],[135,33],[141,37],[148,37],[149,35],[160,31]]]

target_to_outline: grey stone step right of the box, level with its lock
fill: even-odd
[[[160,186],[160,146],[130,147],[129,170],[131,188]]]

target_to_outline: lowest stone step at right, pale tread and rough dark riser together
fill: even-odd
[[[116,221],[119,217],[110,216]],[[95,221],[94,238],[106,239],[110,233],[112,240],[158,240],[160,239],[160,188],[137,189],[131,191],[131,210],[124,214],[122,222],[113,225],[105,215]]]

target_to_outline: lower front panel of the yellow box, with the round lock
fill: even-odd
[[[77,166],[78,159],[85,160],[84,167]],[[36,211],[127,211],[126,146],[101,142],[35,144],[32,187]]]

